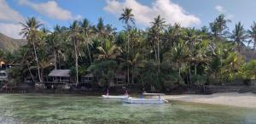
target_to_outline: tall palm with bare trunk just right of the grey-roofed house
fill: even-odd
[[[79,83],[79,41],[81,41],[80,35],[81,28],[79,26],[79,21],[74,20],[73,24],[70,25],[69,37],[73,42],[74,54],[75,54],[75,68],[76,68],[76,84]]]

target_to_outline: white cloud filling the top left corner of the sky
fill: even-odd
[[[0,0],[0,21],[19,22],[23,20],[24,17],[13,8],[10,8],[5,0]]]

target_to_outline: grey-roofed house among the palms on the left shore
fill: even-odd
[[[51,70],[49,72],[49,82],[45,82],[46,88],[69,88],[71,77],[70,70]]]

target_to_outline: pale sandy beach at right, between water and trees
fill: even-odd
[[[237,107],[256,108],[255,93],[214,93],[211,95],[166,95],[165,99],[184,102],[223,104]]]

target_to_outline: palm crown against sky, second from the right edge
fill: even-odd
[[[246,31],[244,30],[243,25],[241,25],[241,22],[238,22],[238,24],[236,24],[236,27],[232,31],[232,35],[230,38],[233,39],[234,42],[236,42],[237,51],[240,52],[241,48],[245,46],[243,42],[245,42],[247,39]]]

